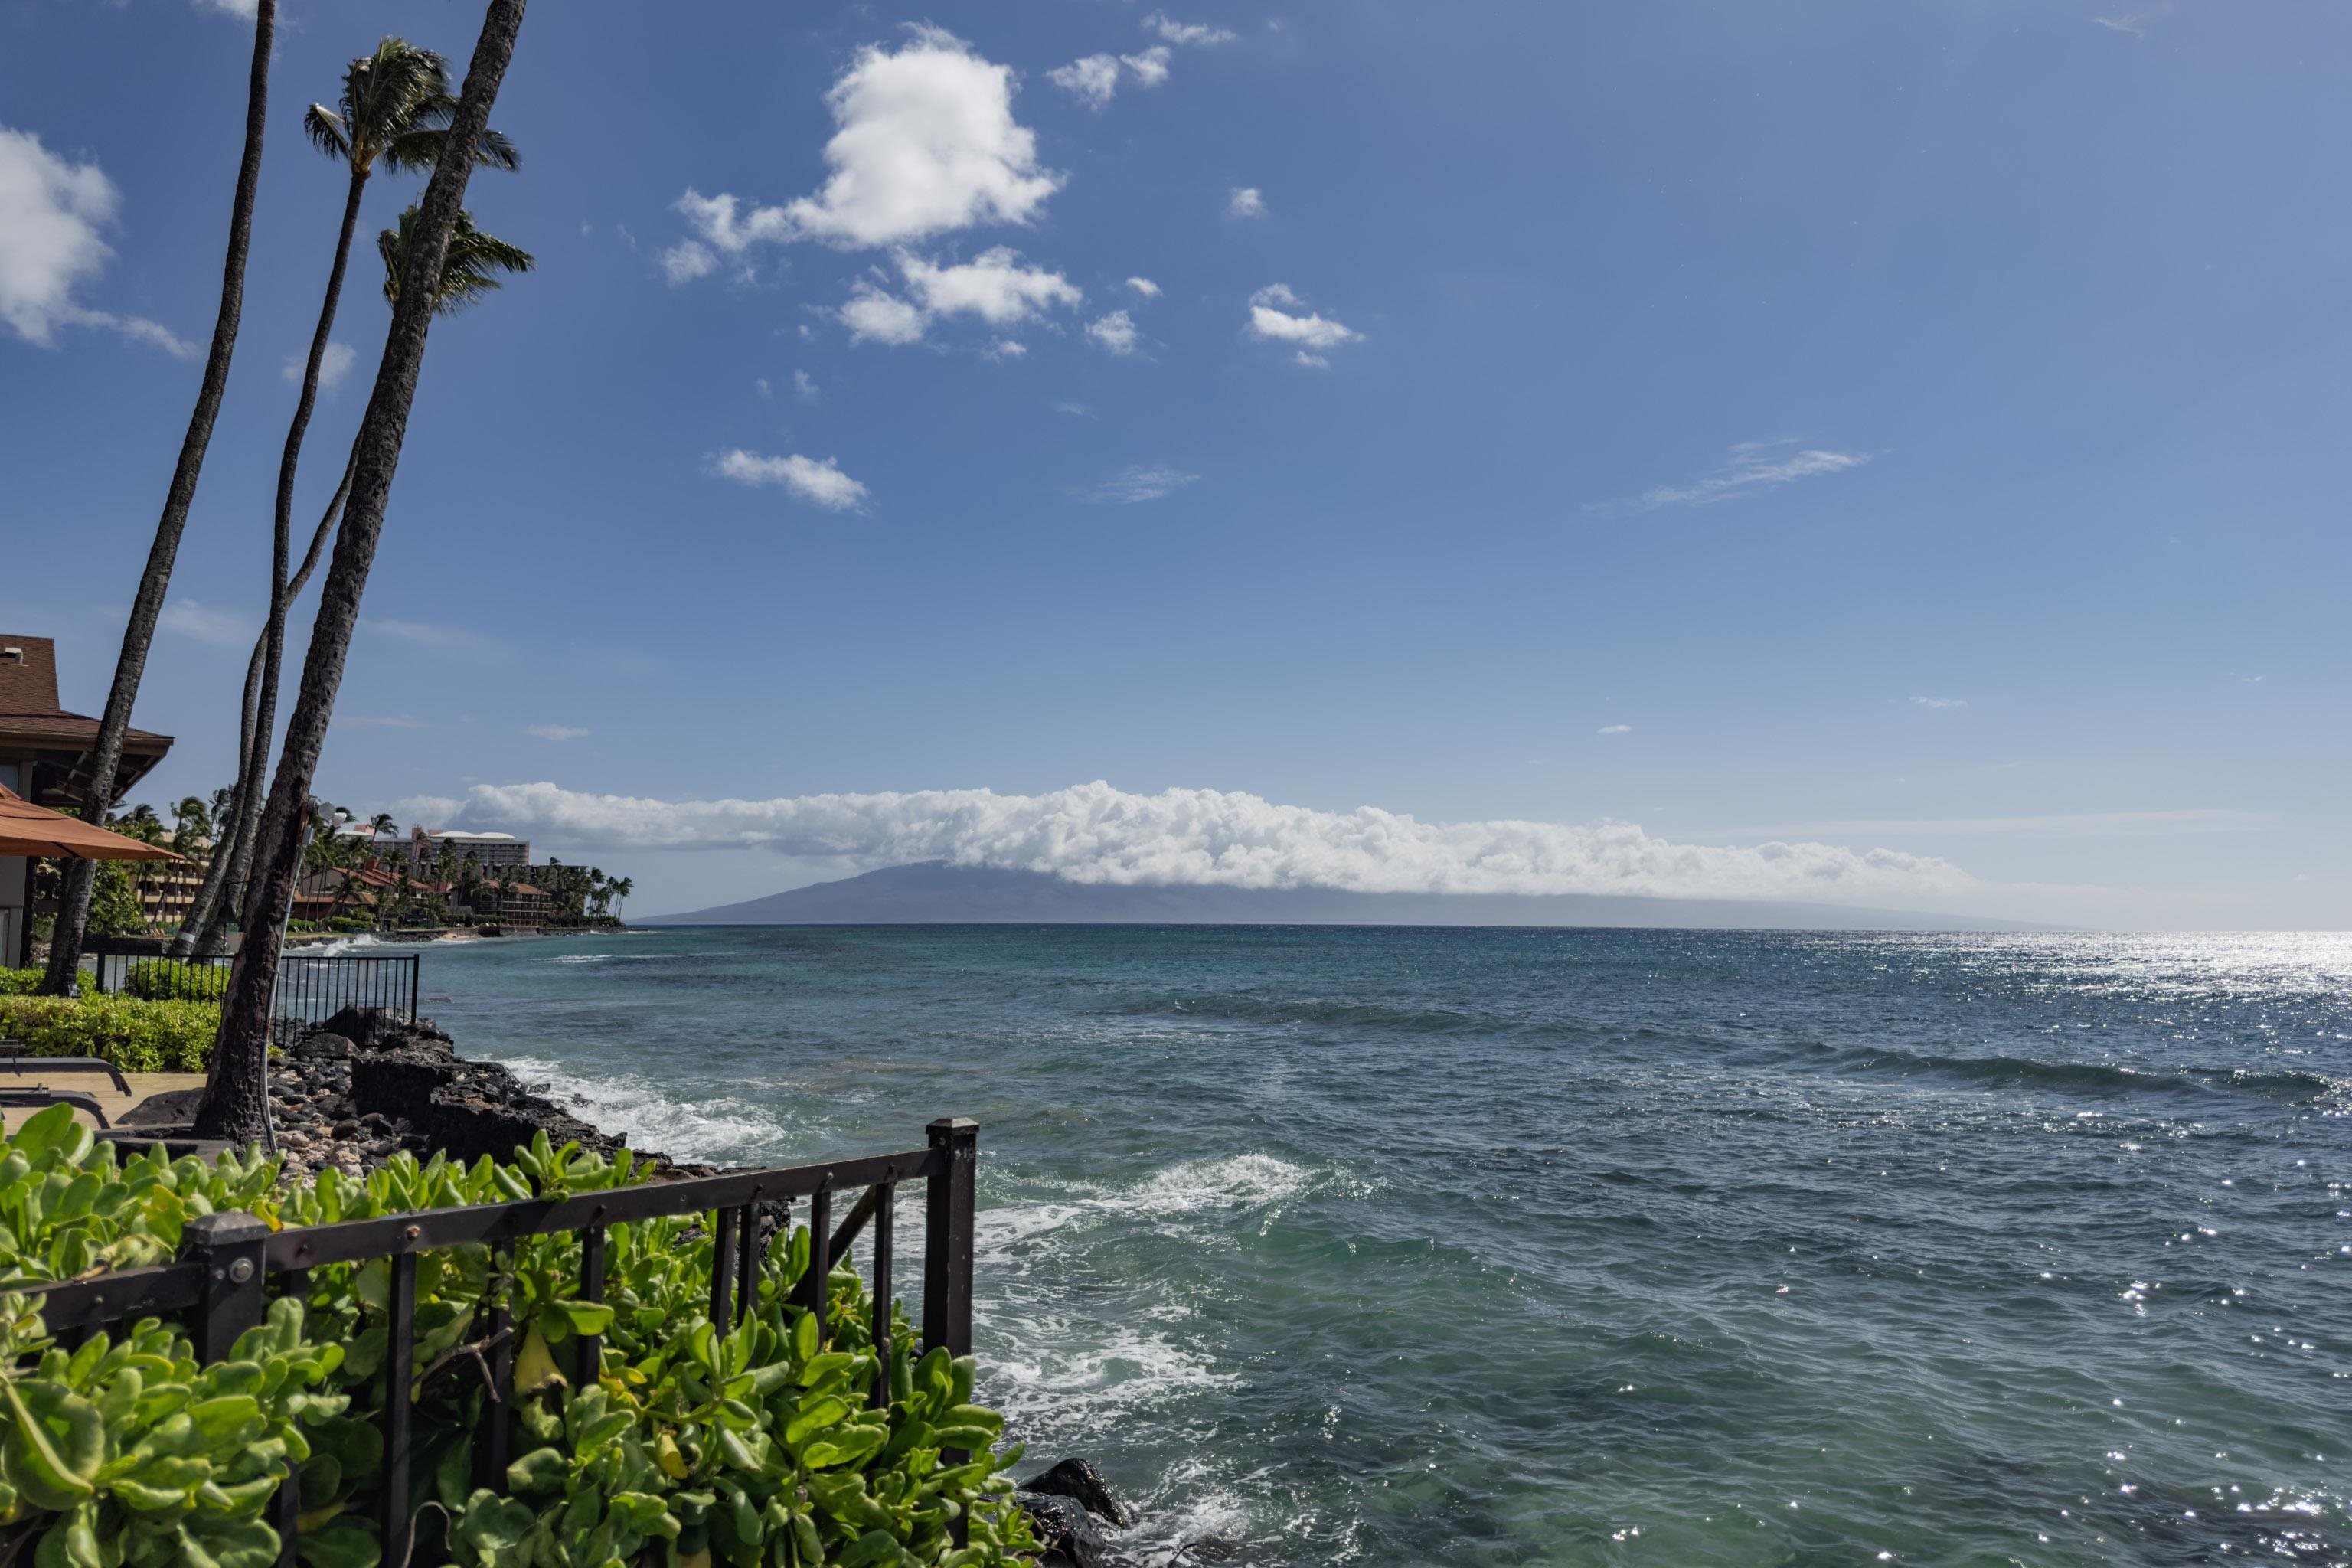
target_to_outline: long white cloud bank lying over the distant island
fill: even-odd
[[[1047,795],[908,790],[666,802],[555,783],[419,797],[405,818],[590,851],[764,849],[840,875],[948,860],[1115,886],[1355,893],[1644,893],[1658,898],[1947,900],[1985,889],[1933,856],[1835,844],[1675,844],[1632,823],[1421,823],[1315,811],[1240,790]]]

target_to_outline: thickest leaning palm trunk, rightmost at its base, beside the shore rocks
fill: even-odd
[[[263,0],[268,5],[268,0]],[[409,407],[416,402],[416,374],[426,360],[426,329],[433,324],[433,284],[449,252],[449,230],[466,202],[475,148],[489,125],[489,106],[515,56],[524,0],[489,0],[482,35],[466,68],[466,89],[449,120],[449,139],[416,219],[416,249],[409,254],[393,327],[376,367],[376,388],[360,421],[358,461],[350,473],[350,498],[343,527],[334,541],[334,559],[318,595],[318,621],[310,625],[310,651],[303,658],[294,712],[287,717],[285,750],[270,780],[261,816],[261,839],[254,860],[249,898],[252,922],[228,978],[221,1006],[221,1032],[212,1044],[212,1072],[205,1100],[195,1112],[200,1138],[235,1138],[270,1143],[270,1009],[278,992],[280,926],[294,910],[294,886],[301,879],[303,825],[310,818],[310,783],[327,745],[327,722],[343,684],[343,661],[360,623],[360,595],[383,538],[383,508],[390,503],[393,473],[400,468],[400,442],[407,437]]]

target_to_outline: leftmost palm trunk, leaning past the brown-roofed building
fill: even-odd
[[[132,726],[132,701],[139,696],[146,656],[155,644],[155,618],[162,614],[162,595],[172,585],[179,536],[188,529],[195,480],[205,470],[212,425],[221,416],[221,397],[228,393],[228,362],[235,355],[238,320],[245,313],[245,252],[254,237],[254,193],[261,188],[261,129],[270,106],[270,40],[275,33],[278,0],[259,0],[254,12],[254,63],[245,87],[245,158],[238,165],[238,193],[228,205],[228,259],[221,263],[221,310],[212,317],[212,353],[205,355],[205,381],[195,390],[188,435],[179,444],[172,489],[165,491],[162,517],[155,522],[155,543],[148,545],[148,564],[139,576],[139,595],[132,599],[132,621],[122,628],[122,656],[115,658],[115,684],[106,689],[106,712],[99,717],[99,738],[89,755],[89,785],[82,792],[82,820],[87,823],[103,825],[106,809],[115,804],[115,776],[122,771],[122,731]],[[59,900],[56,929],[49,936],[49,973],[40,983],[40,990],[52,997],[64,997],[78,985],[75,973],[82,964],[82,933],[89,926],[89,889],[94,877],[96,865],[92,860],[66,863],[66,891]]]

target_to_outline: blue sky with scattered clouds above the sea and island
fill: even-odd
[[[524,24],[524,167],[470,207],[541,266],[433,329],[327,797],[461,802],[409,811],[647,912],[917,846],[2352,924],[2352,12],[652,16]],[[341,200],[301,106],[475,26],[285,5],[158,797],[230,771]],[[96,710],[249,33],[35,0],[0,40],[0,623]],[[993,795],[870,799],[924,790]]]

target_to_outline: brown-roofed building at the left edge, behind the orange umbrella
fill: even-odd
[[[52,811],[80,813],[99,722],[56,705],[56,642],[0,632],[0,788]],[[115,799],[162,762],[172,736],[122,733]],[[0,966],[28,961],[33,940],[31,860],[0,856]]]

